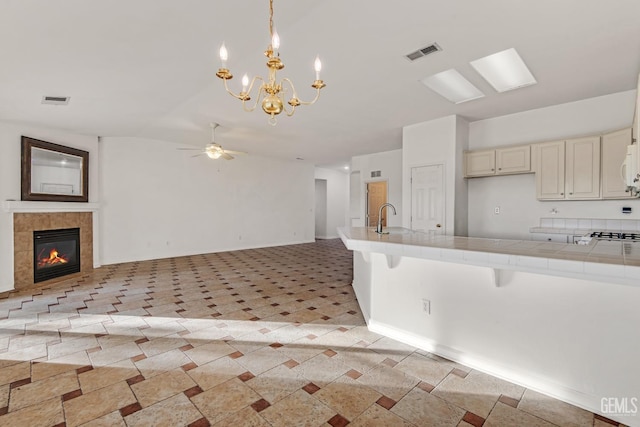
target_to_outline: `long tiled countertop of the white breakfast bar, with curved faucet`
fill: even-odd
[[[353,251],[640,286],[640,242],[594,239],[574,245],[390,230],[379,235],[371,228],[341,227],[338,234]]]

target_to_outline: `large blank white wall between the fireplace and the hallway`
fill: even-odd
[[[314,168],[103,138],[102,263],[314,240]]]

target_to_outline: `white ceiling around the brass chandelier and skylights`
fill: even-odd
[[[267,124],[215,76],[225,41],[230,83],[265,75],[268,0],[2,0],[0,120],[192,145],[221,127],[225,148],[318,165],[401,147],[402,127],[470,121],[634,89],[638,0],[275,0],[281,58],[301,98],[313,60],[318,103]],[[437,42],[442,52],[404,55]],[[469,61],[518,50],[538,84],[496,93]],[[419,80],[456,68],[486,97],[453,105]],[[43,95],[70,96],[68,106]]]

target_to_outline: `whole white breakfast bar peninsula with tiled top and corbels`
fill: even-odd
[[[371,330],[596,413],[640,398],[640,244],[338,232]]]

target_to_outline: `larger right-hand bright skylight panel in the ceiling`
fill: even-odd
[[[518,52],[511,48],[472,61],[471,66],[498,92],[536,84]]]

